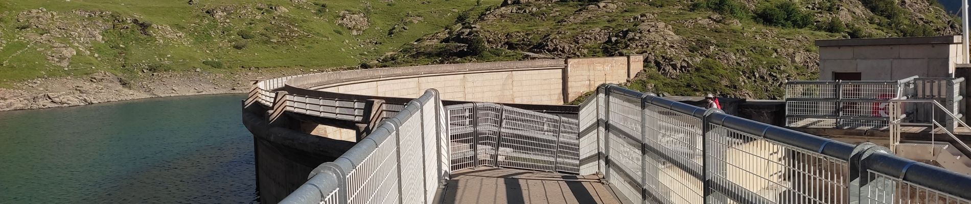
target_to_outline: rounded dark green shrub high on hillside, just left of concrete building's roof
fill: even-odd
[[[787,27],[805,28],[813,24],[813,15],[802,11],[792,2],[783,2],[772,6],[762,7],[755,14],[755,20],[762,24]]]

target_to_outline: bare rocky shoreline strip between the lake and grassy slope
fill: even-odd
[[[157,97],[234,94],[250,91],[250,80],[304,73],[303,70],[241,73],[140,73],[137,77],[100,72],[37,78],[0,88],[0,111],[66,107]]]

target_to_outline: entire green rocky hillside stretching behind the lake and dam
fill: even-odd
[[[0,0],[0,88],[107,72],[161,96],[138,81],[641,54],[633,89],[778,99],[819,74],[815,40],[951,35],[954,19],[935,0]]]

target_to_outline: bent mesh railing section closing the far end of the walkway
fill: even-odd
[[[576,120],[490,102],[454,104],[452,170],[478,166],[579,173]]]

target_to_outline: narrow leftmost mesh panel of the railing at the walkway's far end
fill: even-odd
[[[450,105],[449,116],[449,154],[451,171],[477,166],[476,150],[476,106]]]

